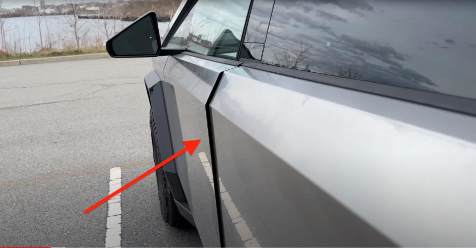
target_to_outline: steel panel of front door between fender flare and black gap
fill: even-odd
[[[220,73],[231,68],[234,66],[179,54],[170,56],[164,69],[164,96],[174,150],[183,148],[183,140],[201,140],[192,156],[188,153],[180,156],[176,163],[183,191],[205,247],[220,246],[215,193],[210,182],[213,176],[211,170],[204,170],[206,165],[214,166],[205,103]]]

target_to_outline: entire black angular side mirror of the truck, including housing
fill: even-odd
[[[157,16],[147,12],[106,42],[111,57],[155,57],[161,49]]]

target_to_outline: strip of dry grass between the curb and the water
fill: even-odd
[[[67,55],[79,55],[79,54],[91,54],[106,52],[104,47],[91,47],[78,50],[47,50],[42,49],[31,53],[11,53],[0,50],[0,61],[18,60],[25,58],[46,58],[46,57],[58,57]]]

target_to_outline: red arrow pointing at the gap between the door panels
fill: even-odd
[[[109,199],[113,198],[114,196],[116,196],[117,194],[121,193],[122,191],[124,191],[125,189],[129,188],[130,186],[132,186],[133,184],[139,182],[142,178],[148,176],[150,173],[154,172],[155,170],[159,169],[160,167],[164,166],[165,164],[167,164],[168,162],[174,160],[176,157],[180,156],[182,153],[184,153],[185,151],[188,151],[188,153],[193,154],[193,151],[197,148],[198,146],[198,143],[200,143],[200,140],[193,140],[193,141],[183,141],[183,145],[185,146],[183,149],[179,150],[178,152],[176,152],[174,155],[170,156],[169,158],[167,158],[166,160],[160,162],[159,164],[157,164],[156,166],[154,166],[153,168],[151,168],[150,170],[144,172],[142,175],[136,177],[134,180],[128,182],[126,185],[122,186],[119,188],[119,190],[111,193],[111,195],[103,198],[102,200],[94,203],[92,206],[88,207],[86,210],[84,210],[84,213],[89,213],[91,212],[91,210],[93,210],[94,208],[98,207],[99,205],[103,204],[104,202],[108,201]]]

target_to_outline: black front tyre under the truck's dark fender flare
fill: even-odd
[[[150,117],[150,131],[151,131],[151,138],[152,138],[152,150],[154,156],[155,164],[158,164],[161,160],[160,151],[155,143],[154,138],[154,117]],[[163,168],[159,168],[155,171],[155,175],[157,177],[157,188],[159,190],[159,203],[160,203],[160,213],[164,221],[173,227],[185,227],[188,224],[188,221],[183,218],[180,214],[179,209],[174,201],[174,196],[172,195],[172,190],[167,182],[167,178],[165,177],[165,172]]]

